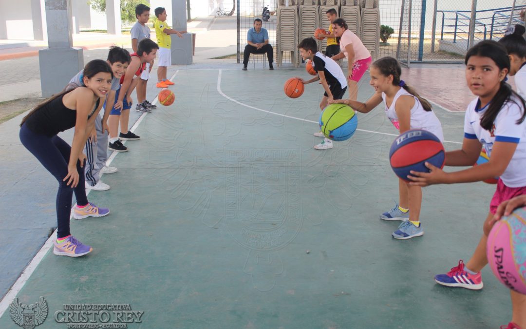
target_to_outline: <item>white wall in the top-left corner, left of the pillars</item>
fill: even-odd
[[[0,1],[0,38],[34,39],[31,0]]]

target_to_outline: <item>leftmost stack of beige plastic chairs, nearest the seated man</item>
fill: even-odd
[[[281,0],[280,0],[281,1]],[[278,7],[278,24],[276,27],[276,43],[278,66],[283,62],[283,53],[290,52],[292,64],[298,61],[298,8],[296,5]]]

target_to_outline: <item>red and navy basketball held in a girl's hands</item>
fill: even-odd
[[[411,129],[400,134],[391,144],[389,151],[392,170],[407,182],[409,171],[429,173],[425,162],[442,168],[445,160],[446,153],[440,139],[422,129]]]

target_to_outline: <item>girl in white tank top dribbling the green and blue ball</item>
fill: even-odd
[[[425,129],[443,141],[442,126],[431,111],[431,105],[400,79],[401,73],[402,68],[395,58],[380,58],[371,65],[369,72],[370,85],[375,88],[376,93],[366,103],[350,99],[340,99],[334,103],[347,104],[358,112],[368,113],[383,102],[387,117],[400,133],[409,129]],[[380,218],[386,221],[403,221],[398,230],[392,233],[399,240],[423,235],[419,219],[422,189],[399,179],[399,193],[399,203],[381,214]]]

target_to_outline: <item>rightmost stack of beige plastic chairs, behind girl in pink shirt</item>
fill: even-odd
[[[363,5],[360,15],[360,39],[363,45],[369,49],[372,60],[375,61],[380,46],[380,9],[378,8],[378,0],[361,0],[360,5]]]

